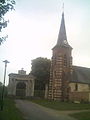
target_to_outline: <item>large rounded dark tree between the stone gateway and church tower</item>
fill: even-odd
[[[32,60],[31,74],[35,76],[35,90],[45,90],[45,85],[49,83],[51,61],[47,58],[38,57]]]

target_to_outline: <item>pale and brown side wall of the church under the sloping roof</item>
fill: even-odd
[[[76,88],[77,85],[77,88]],[[90,102],[90,85],[82,83],[70,83],[70,101],[89,101]]]

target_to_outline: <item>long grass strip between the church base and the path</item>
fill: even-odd
[[[90,109],[90,104],[75,104],[71,102],[49,101],[49,100],[32,100],[39,105],[52,108],[55,110],[87,110]]]

